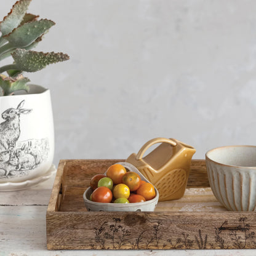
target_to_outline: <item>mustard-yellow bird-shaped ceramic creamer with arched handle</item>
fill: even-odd
[[[143,157],[150,146],[161,143]],[[153,138],[137,154],[126,159],[158,189],[159,201],[182,198],[185,193],[191,158],[196,150],[174,138]]]

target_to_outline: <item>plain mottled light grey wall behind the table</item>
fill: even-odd
[[[1,0],[0,15],[15,1]],[[57,24],[36,50],[68,62],[27,74],[51,90],[55,164],[127,158],[154,137],[256,144],[256,2],[33,0]]]

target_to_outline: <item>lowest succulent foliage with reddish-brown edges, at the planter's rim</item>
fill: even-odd
[[[30,88],[26,85],[27,82],[30,82],[30,79],[25,78],[22,74],[16,78],[0,74],[0,87],[3,95],[11,95],[16,90],[26,90],[28,92]]]

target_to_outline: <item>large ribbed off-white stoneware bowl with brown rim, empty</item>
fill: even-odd
[[[256,210],[256,146],[223,146],[206,153],[212,192],[228,210]]]

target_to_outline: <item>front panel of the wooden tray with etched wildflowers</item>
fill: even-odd
[[[256,215],[241,212],[52,212],[48,249],[252,249]]]

